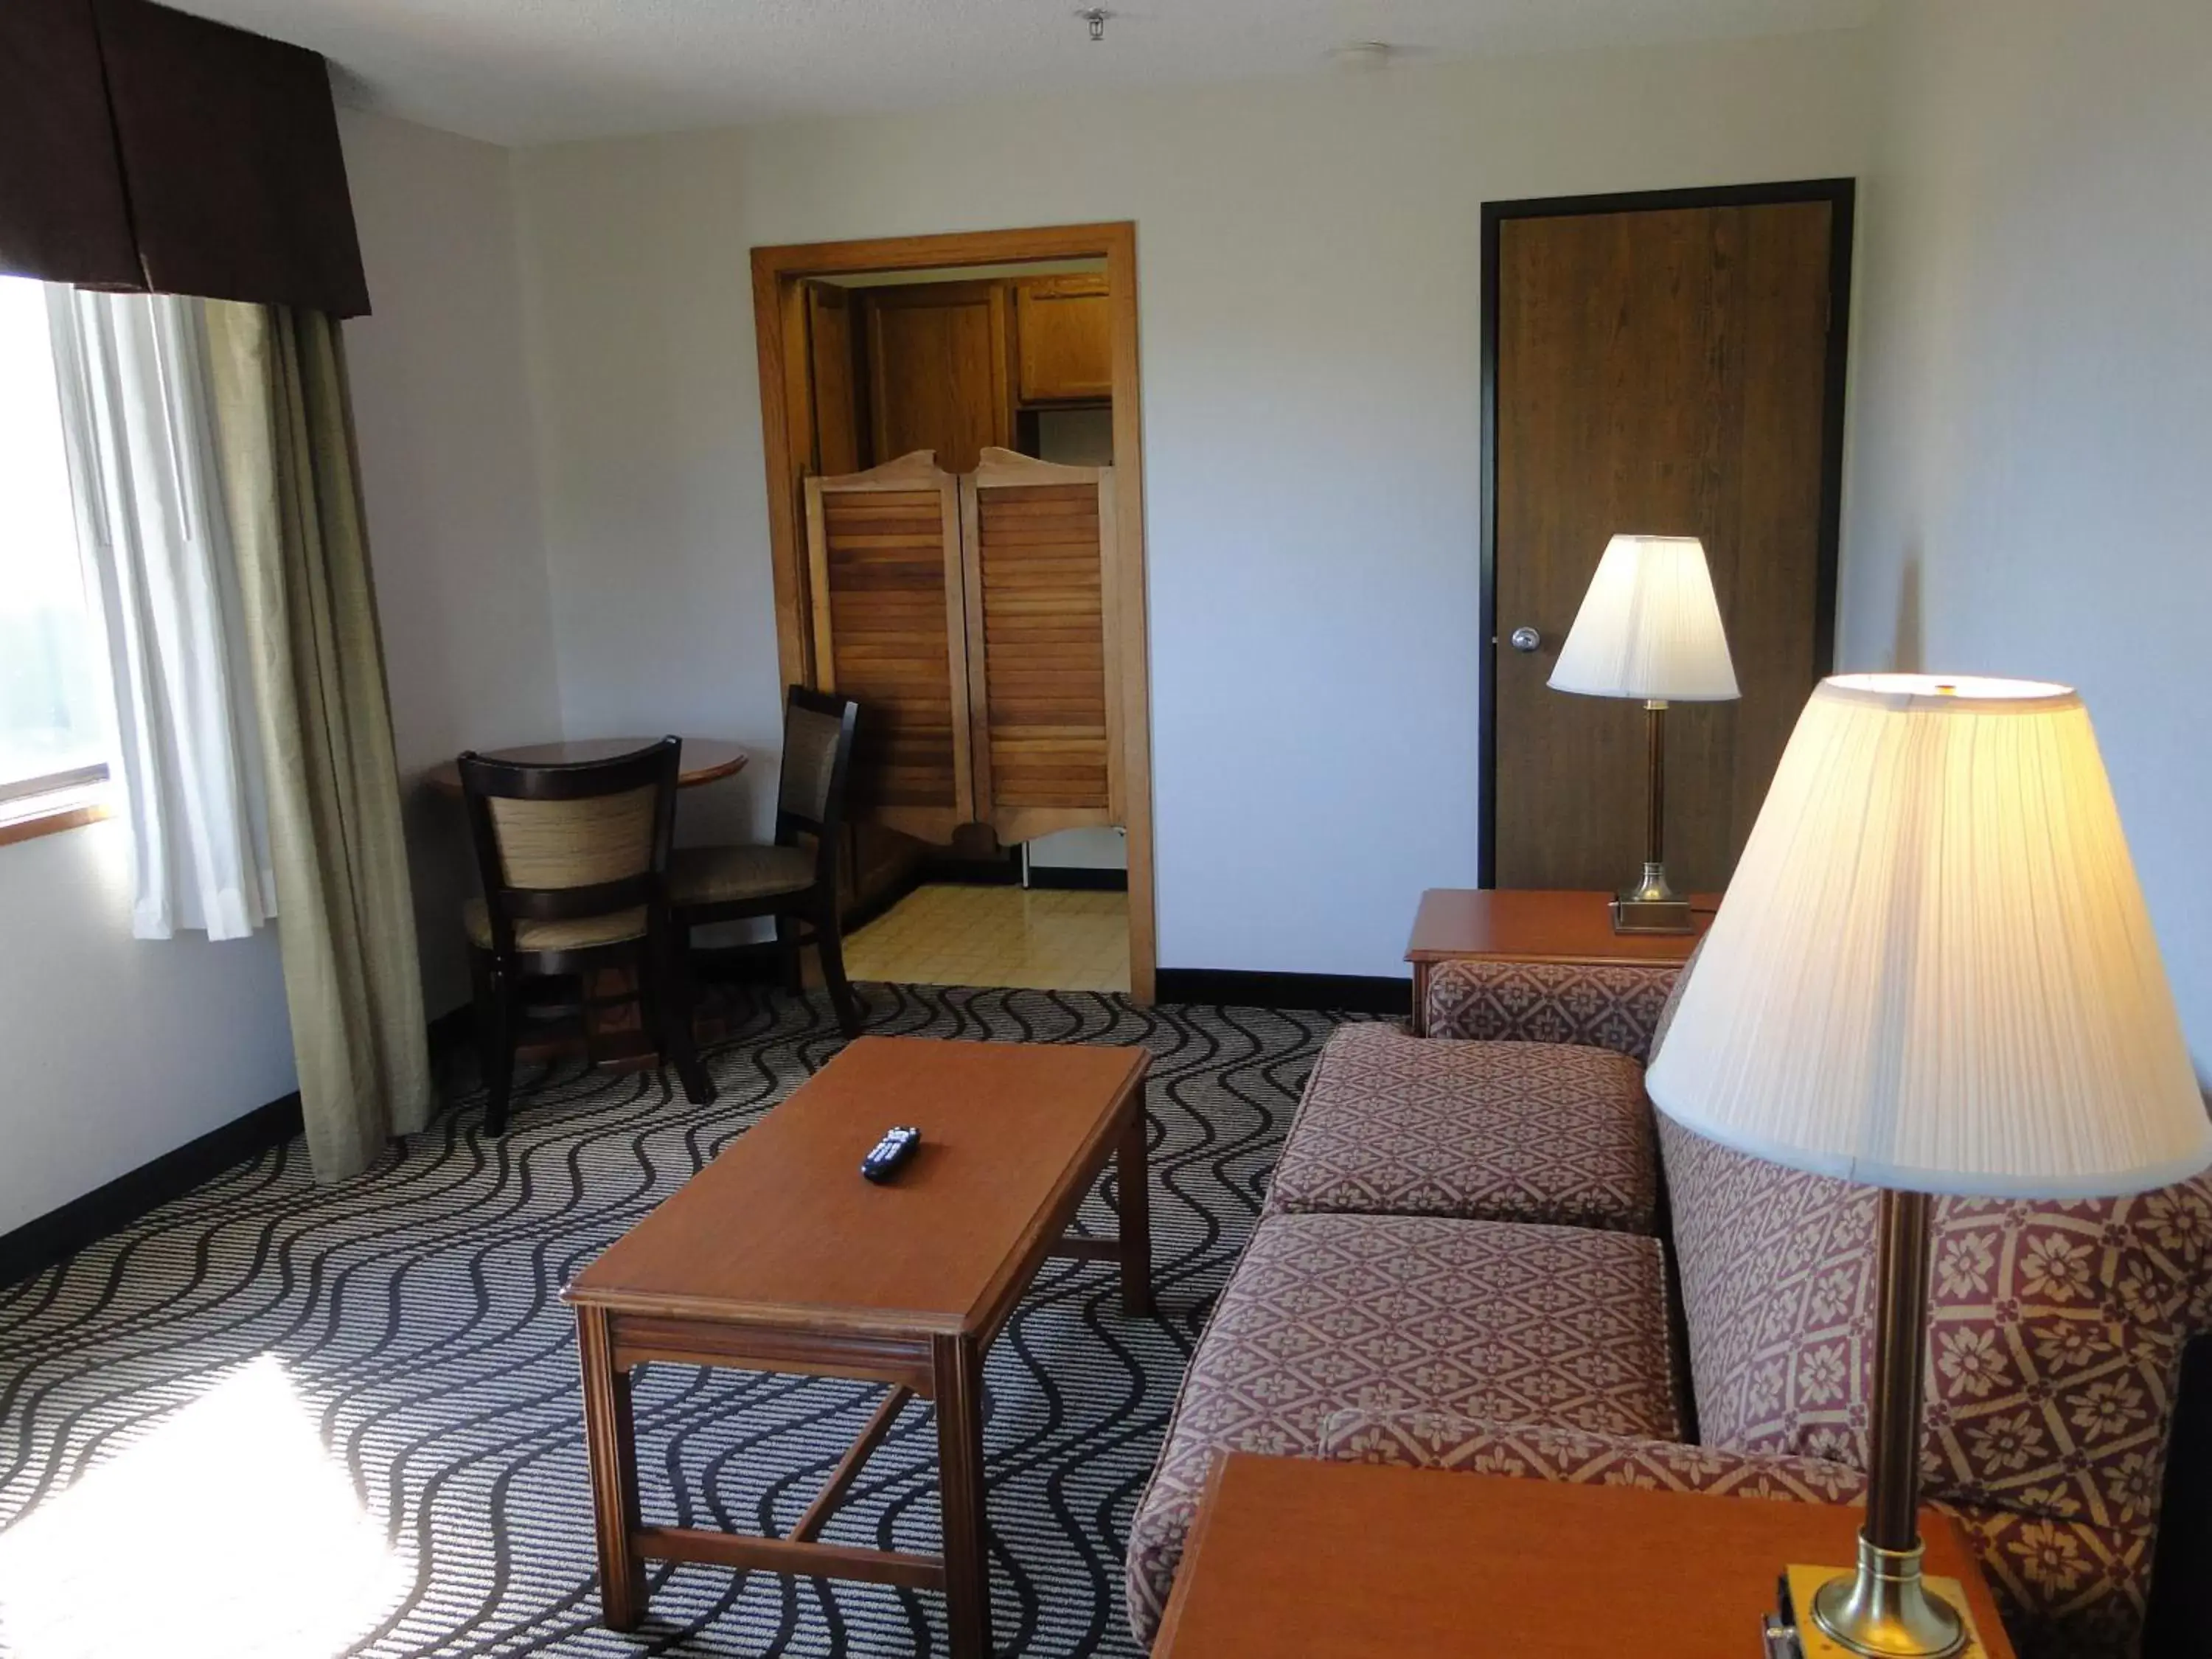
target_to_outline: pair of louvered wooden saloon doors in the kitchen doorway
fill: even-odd
[[[854,816],[938,845],[1124,823],[1113,469],[989,447],[805,495],[816,679],[863,708]]]

